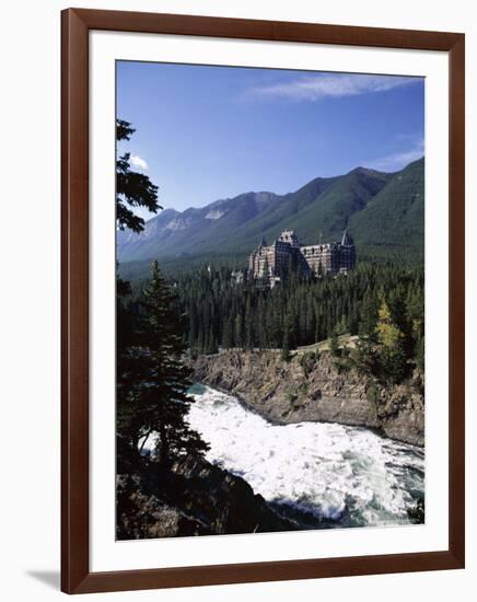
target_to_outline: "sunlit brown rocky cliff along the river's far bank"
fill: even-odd
[[[303,366],[277,351],[223,350],[194,362],[198,382],[237,396],[281,424],[316,420],[379,429],[386,437],[424,444],[423,384],[419,374],[384,387],[356,370],[339,371],[329,354]]]

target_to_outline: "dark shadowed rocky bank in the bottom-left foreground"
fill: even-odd
[[[124,462],[123,462],[124,464]],[[117,537],[179,537],[289,531],[281,518],[241,477],[202,459],[186,458],[170,470],[156,462],[141,470],[118,466]]]

